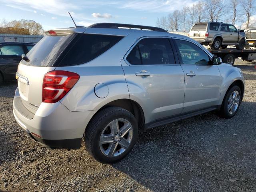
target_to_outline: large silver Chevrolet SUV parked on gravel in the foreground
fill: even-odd
[[[16,78],[13,113],[31,138],[78,149],[84,137],[103,163],[126,156],[139,130],[212,110],[231,118],[244,95],[242,71],[198,42],[127,24],[49,30]]]

